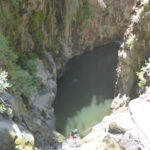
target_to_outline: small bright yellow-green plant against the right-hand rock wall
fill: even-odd
[[[146,67],[143,66],[140,70],[140,72],[136,72],[136,75],[139,79],[139,82],[138,82],[138,86],[141,90],[144,89],[145,85],[146,85],[146,79],[144,78],[144,72],[146,71]]]

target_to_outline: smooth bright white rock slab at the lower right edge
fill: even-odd
[[[150,149],[150,102],[141,98],[134,99],[129,103],[129,110],[137,126],[142,144]]]

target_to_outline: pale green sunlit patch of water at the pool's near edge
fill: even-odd
[[[111,100],[105,99],[104,101],[102,97],[97,98],[94,95],[88,106],[82,107],[81,110],[75,112],[73,117],[67,118],[64,135],[68,137],[70,131],[75,128],[83,132],[101,121],[104,116],[110,113],[110,104]]]

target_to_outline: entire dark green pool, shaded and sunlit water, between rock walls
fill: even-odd
[[[95,48],[67,64],[54,103],[56,128],[63,135],[74,128],[82,132],[110,113],[118,48],[113,43]]]

